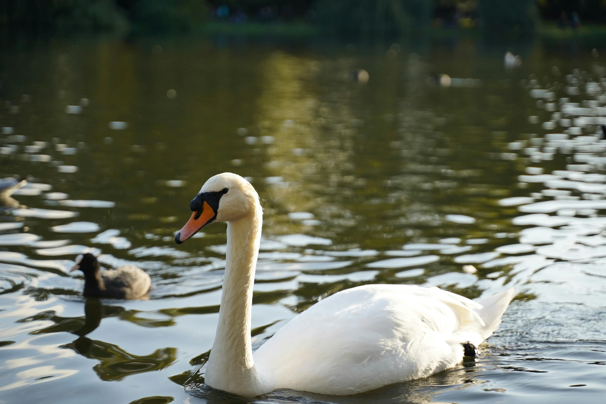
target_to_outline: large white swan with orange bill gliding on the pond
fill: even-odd
[[[333,294],[290,320],[253,354],[250,317],[262,208],[255,188],[218,174],[191,201],[182,243],[227,222],[227,263],[205,383],[254,397],[277,388],[346,395],[430,376],[489,337],[514,290],[481,304],[438,288],[365,285]],[[465,348],[464,348],[465,344]]]

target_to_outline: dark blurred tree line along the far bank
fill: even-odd
[[[606,22],[606,0],[1,0],[0,30],[195,31],[204,22],[307,22],[401,34],[431,27],[525,35],[543,19]]]

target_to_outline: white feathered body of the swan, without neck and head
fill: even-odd
[[[462,343],[485,339],[481,310],[438,288],[359,286],[279,329],[256,351],[255,367],[274,388],[338,395],[429,376],[461,362]]]

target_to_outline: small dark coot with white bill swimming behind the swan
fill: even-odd
[[[70,272],[84,273],[84,296],[111,299],[142,299],[150,290],[150,276],[135,267],[124,265],[116,270],[101,271],[97,258],[90,253],[76,257],[76,265]]]

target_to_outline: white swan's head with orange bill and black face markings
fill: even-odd
[[[175,236],[181,244],[211,222],[233,222],[253,214],[259,196],[250,182],[238,174],[222,173],[210,177],[190,202],[193,211],[185,226]]]

